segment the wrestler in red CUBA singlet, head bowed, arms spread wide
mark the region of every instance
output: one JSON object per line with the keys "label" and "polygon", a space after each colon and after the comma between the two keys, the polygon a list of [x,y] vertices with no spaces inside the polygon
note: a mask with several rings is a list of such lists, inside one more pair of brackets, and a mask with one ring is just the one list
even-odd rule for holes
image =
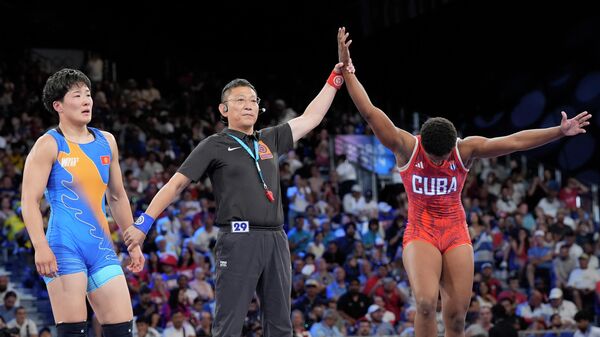
{"label": "wrestler in red CUBA singlet, head bowed, arms spread wide", "polygon": [[582,112],[560,126],[525,130],[505,137],[457,138],[445,118],[431,118],[420,135],[397,128],[375,107],[354,74],[348,34],[338,32],[338,55],[346,87],[358,111],[383,145],[396,155],[408,194],[408,225],[402,258],[417,304],[415,335],[437,336],[435,308],[441,291],[446,336],[464,336],[473,285],[473,247],[460,194],[471,163],[544,145],[563,136],[584,133],[591,118]]}

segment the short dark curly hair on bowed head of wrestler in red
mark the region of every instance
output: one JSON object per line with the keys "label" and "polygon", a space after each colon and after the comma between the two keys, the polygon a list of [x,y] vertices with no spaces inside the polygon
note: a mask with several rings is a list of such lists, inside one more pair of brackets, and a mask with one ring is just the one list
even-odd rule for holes
{"label": "short dark curly hair on bowed head of wrestler in red", "polygon": [[445,156],[456,146],[458,137],[451,121],[443,117],[429,118],[421,126],[421,143],[428,154]]}

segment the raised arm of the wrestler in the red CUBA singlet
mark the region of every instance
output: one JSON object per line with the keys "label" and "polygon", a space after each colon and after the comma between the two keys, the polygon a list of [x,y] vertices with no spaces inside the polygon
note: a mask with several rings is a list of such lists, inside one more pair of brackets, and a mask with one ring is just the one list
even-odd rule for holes
{"label": "raised arm of the wrestler in the red CUBA singlet", "polygon": [[340,28],[338,30],[338,57],[339,61],[345,65],[343,68],[344,79],[354,105],[369,123],[381,143],[393,152],[400,154],[403,159],[408,160],[415,146],[415,137],[409,132],[397,128],[381,109],[371,103],[365,88],[354,74],[348,48],[352,40],[346,42],[347,39],[346,29]]}

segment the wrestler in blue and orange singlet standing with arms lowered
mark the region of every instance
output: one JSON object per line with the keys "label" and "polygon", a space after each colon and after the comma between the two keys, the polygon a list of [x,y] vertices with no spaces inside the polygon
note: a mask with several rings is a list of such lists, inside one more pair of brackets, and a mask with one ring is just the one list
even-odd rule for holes
{"label": "wrestler in blue and orange singlet standing with arms lowered", "polygon": [[[47,283],[58,336],[86,336],[86,296],[104,336],[131,336],[131,300],[111,240],[105,203],[115,221],[131,226],[133,217],[123,186],[115,138],[89,128],[90,80],[63,69],[44,87],[43,101],[58,113],[58,128],[31,149],[23,172],[22,210],[35,248],[35,263]],[[48,230],[40,212],[45,194],[51,206]],[[129,252],[128,268],[141,270],[139,246]]]}

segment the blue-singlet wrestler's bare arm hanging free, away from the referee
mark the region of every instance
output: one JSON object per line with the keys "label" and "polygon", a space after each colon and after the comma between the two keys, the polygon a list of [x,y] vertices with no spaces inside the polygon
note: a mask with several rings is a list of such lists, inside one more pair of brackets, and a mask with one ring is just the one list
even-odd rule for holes
{"label": "blue-singlet wrestler's bare arm hanging free, away from the referee", "polygon": [[58,145],[50,135],[40,137],[25,161],[21,210],[25,227],[35,248],[35,267],[42,276],[54,277],[58,271],[56,257],[44,234],[40,201],[48,184],[52,165],[58,155]]}

